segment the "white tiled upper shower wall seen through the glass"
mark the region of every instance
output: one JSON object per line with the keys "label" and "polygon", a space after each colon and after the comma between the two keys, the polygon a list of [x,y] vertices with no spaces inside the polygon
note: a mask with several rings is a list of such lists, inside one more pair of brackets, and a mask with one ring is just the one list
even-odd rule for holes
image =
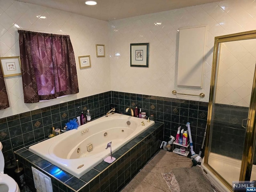
{"label": "white tiled upper shower wall seen through the glass", "polygon": [[256,62],[256,39],[222,43],[216,102],[250,106]]}

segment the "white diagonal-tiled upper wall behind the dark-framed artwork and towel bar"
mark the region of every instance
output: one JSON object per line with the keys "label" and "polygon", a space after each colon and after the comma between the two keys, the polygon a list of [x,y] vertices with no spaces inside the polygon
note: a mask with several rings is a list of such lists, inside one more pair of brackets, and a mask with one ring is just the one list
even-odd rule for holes
{"label": "white diagonal-tiled upper wall behind the dark-framed artwork and towel bar", "polygon": [[[109,22],[112,90],[208,102],[214,37],[256,30],[255,17],[254,0],[227,0]],[[177,87],[178,29],[199,25],[208,25],[203,88]],[[149,68],[130,67],[130,43],[146,42]]]}

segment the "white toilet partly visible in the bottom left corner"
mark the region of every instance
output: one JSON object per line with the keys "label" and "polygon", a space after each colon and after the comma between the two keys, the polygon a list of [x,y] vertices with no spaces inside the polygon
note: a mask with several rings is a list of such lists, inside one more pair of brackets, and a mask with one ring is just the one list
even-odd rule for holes
{"label": "white toilet partly visible in the bottom left corner", "polygon": [[4,174],[4,156],[2,148],[3,146],[0,142],[0,192],[20,192],[20,188],[15,180],[7,174]]}

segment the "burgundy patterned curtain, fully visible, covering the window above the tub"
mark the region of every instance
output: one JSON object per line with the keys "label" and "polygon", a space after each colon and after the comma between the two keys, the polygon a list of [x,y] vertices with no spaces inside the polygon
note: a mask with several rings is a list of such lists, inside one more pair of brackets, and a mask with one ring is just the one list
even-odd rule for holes
{"label": "burgundy patterned curtain, fully visible, covering the window above the tub", "polygon": [[18,30],[25,103],[76,94],[74,50],[68,35]]}

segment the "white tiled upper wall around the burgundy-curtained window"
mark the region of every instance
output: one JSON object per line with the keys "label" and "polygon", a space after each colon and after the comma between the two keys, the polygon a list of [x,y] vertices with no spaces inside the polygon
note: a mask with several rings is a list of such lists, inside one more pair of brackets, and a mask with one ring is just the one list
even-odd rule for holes
{"label": "white tiled upper wall around the burgundy-curtained window", "polygon": [[[46,19],[37,16],[46,16]],[[108,22],[14,0],[0,0],[0,57],[20,56],[17,28],[70,35],[79,93],[25,104],[21,76],[6,77],[10,107],[0,110],[0,118],[111,90],[110,81],[107,81],[110,79]],[[105,44],[106,57],[96,57],[96,44]],[[90,55],[92,67],[80,69],[78,56],[85,55]]]}

